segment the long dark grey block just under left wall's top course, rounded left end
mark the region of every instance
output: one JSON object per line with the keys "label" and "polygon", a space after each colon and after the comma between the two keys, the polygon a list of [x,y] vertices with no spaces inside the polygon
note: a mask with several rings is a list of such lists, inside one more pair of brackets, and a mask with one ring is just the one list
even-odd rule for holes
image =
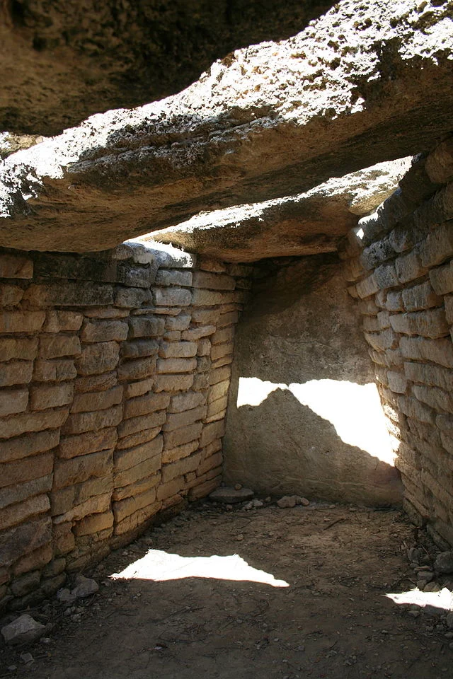
{"label": "long dark grey block just under left wall's top course, rounded left end", "polygon": [[107,306],[113,303],[113,287],[91,281],[34,284],[24,299],[35,306]]}

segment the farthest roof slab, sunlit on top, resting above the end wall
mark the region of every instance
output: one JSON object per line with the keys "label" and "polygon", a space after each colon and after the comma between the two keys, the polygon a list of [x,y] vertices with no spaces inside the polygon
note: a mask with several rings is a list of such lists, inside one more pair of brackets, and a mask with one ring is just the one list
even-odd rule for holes
{"label": "farthest roof slab, sunlit on top, resting above the end wall", "polygon": [[227,262],[334,252],[356,216],[376,209],[410,166],[410,157],[378,163],[299,196],[201,213],[141,240],[173,243]]}

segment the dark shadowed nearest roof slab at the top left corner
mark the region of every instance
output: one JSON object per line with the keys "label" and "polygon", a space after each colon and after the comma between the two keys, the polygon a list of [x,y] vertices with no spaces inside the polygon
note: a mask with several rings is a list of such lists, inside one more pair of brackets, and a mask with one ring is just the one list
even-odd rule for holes
{"label": "dark shadowed nearest roof slab at the top left corner", "polygon": [[329,0],[0,2],[0,129],[59,134],[180,91],[238,47],[302,30]]}

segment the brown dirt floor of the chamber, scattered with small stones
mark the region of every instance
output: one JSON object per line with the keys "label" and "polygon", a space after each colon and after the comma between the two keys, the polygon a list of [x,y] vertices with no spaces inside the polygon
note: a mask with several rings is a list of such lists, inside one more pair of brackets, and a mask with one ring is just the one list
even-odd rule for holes
{"label": "brown dirt floor of the chamber, scattered with small stones", "polygon": [[[2,647],[0,676],[451,678],[453,632],[442,616],[385,596],[415,586],[406,556],[414,544],[398,511],[200,504],[89,571],[100,583],[96,595],[69,608],[42,605],[35,613],[57,621],[55,629],[25,649],[28,664],[24,649]],[[159,557],[161,577],[179,579],[144,579],[159,573],[138,571],[140,564],[131,568],[138,579],[109,578],[149,550],[160,550],[148,559]],[[171,554],[239,555],[251,579],[219,579],[237,576],[239,559],[179,559],[169,574]],[[197,564],[204,577],[191,576]],[[265,577],[256,569],[287,586],[252,581]]]}

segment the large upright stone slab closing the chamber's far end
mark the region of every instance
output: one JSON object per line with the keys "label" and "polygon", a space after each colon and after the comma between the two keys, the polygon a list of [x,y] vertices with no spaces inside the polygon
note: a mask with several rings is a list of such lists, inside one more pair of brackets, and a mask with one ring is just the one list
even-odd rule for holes
{"label": "large upright stone slab closing the chamber's far end", "polygon": [[394,453],[340,262],[284,264],[263,276],[236,332],[225,480],[263,493],[399,504]]}

